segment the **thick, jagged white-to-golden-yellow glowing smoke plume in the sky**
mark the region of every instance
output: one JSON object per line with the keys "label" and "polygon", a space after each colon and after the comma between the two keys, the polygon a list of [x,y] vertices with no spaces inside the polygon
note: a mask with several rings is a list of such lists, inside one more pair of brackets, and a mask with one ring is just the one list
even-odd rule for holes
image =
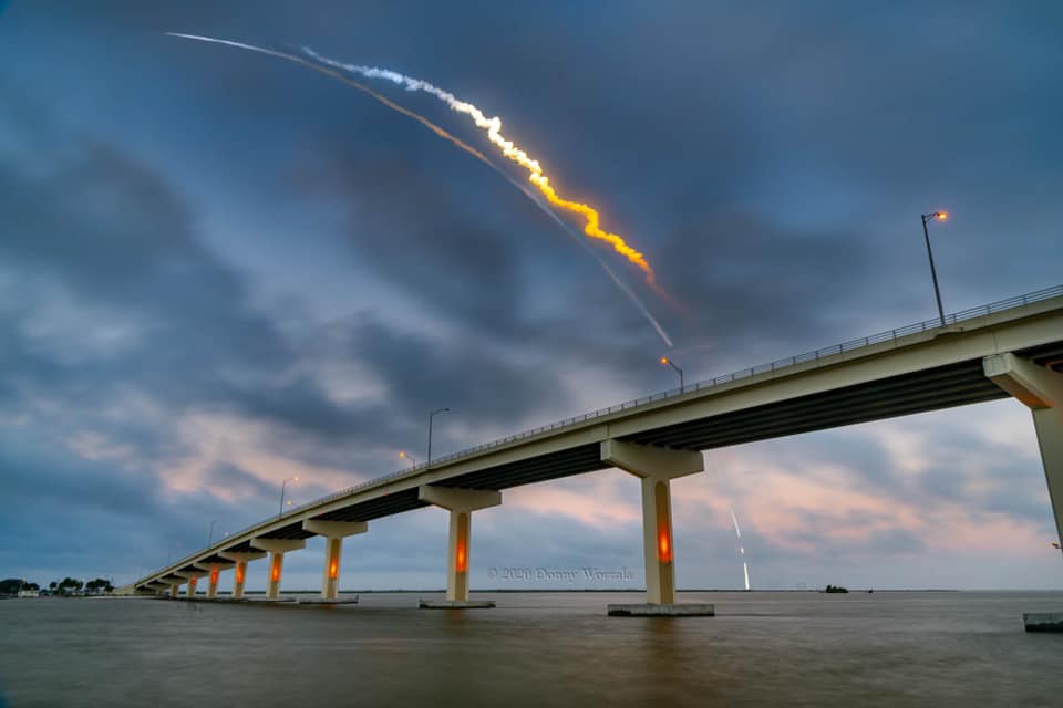
{"label": "thick, jagged white-to-golden-yellow glowing smoke plume in the sky", "polygon": [[600,227],[600,218],[598,212],[592,207],[558,196],[553,185],[550,185],[550,178],[545,171],[543,171],[543,166],[539,164],[539,162],[529,157],[528,154],[517,147],[513,140],[507,139],[502,134],[502,119],[498,116],[488,118],[475,105],[466,101],[462,101],[454,94],[443,91],[438,86],[434,86],[426,81],[412,79],[410,76],[400,74],[399,72],[391,71],[390,69],[378,69],[361,64],[344,64],[327,56],[322,56],[321,54],[318,54],[313,50],[306,46],[302,48],[302,51],[308,56],[328,64],[329,66],[342,69],[344,71],[365,76],[367,79],[384,79],[401,86],[405,86],[406,91],[423,91],[424,93],[431,94],[440,101],[443,101],[453,111],[456,111],[457,113],[464,113],[465,115],[469,116],[476,124],[476,127],[487,132],[487,139],[496,145],[502,150],[503,155],[528,170],[528,180],[538,188],[543,196],[546,197],[547,201],[559,209],[565,209],[566,211],[571,211],[584,217],[584,233],[590,238],[602,240],[612,246],[612,249],[617,253],[620,253],[642,270],[642,272],[646,274],[647,284],[649,284],[654,292],[664,296],[665,299],[669,299],[661,287],[657,284],[657,274],[653,272],[653,267],[650,266],[649,261],[646,260],[646,257],[636,249],[631,248],[620,236],[602,230]]}

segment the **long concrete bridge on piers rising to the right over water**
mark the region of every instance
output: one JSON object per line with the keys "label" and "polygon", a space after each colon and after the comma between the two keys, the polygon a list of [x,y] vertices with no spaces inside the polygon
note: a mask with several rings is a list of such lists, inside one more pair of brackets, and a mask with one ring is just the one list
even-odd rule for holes
{"label": "long concrete bridge on piers rising to the right over water", "polygon": [[285,554],[326,539],[321,597],[337,598],[343,539],[375,519],[450,511],[446,598],[468,601],[472,513],[506,489],[607,468],[642,487],[647,600],[674,603],[671,488],[704,470],[702,451],[1013,396],[1032,410],[1063,538],[1063,285],[568,418],[374,479],[230,534],[141,577],[125,593],[194,596],[233,569],[242,598],[248,562],[269,555],[267,598]]}

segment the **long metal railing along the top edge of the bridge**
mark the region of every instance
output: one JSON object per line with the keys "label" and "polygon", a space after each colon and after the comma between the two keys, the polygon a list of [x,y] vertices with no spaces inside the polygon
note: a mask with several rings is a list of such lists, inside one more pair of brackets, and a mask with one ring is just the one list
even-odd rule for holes
{"label": "long metal railing along the top edge of the bridge", "polygon": [[[1030,304],[1030,303],[1032,303],[1032,302],[1039,302],[1039,301],[1042,301],[1042,300],[1050,300],[1050,299],[1052,299],[1052,298],[1059,298],[1059,296],[1061,296],[1061,295],[1063,295],[1063,284],[1053,285],[1053,287],[1051,287],[1051,288],[1045,288],[1045,289],[1043,289],[1043,290],[1036,290],[1036,291],[1034,291],[1034,292],[1026,293],[1026,294],[1024,294],[1024,295],[1016,295],[1016,296],[1014,296],[1014,298],[1009,298],[1009,299],[1007,299],[1007,300],[1000,300],[1000,301],[998,301],[998,302],[992,302],[992,303],[987,304],[987,305],[980,305],[980,306],[978,306],[978,308],[970,308],[969,310],[961,310],[960,312],[956,312],[956,313],[952,313],[952,314],[948,314],[948,315],[945,316],[945,322],[946,322],[946,325],[956,324],[956,323],[958,323],[958,322],[963,322],[963,321],[966,321],[966,320],[973,320],[974,317],[982,317],[982,316],[985,316],[985,315],[988,315],[988,314],[992,314],[992,313],[994,313],[994,312],[1002,312],[1002,311],[1004,311],[1004,310],[1012,310],[1012,309],[1014,309],[1014,308],[1021,308],[1021,306],[1026,305],[1026,304]],[[650,403],[654,403],[654,402],[658,402],[658,400],[662,400],[662,399],[664,399],[664,398],[672,398],[672,397],[674,397],[674,396],[680,396],[680,395],[682,395],[682,394],[688,394],[688,393],[691,393],[691,392],[693,392],[693,391],[703,391],[703,389],[705,389],[705,388],[712,388],[713,386],[722,386],[723,384],[730,384],[730,383],[732,383],[732,382],[740,381],[740,379],[742,379],[742,378],[750,378],[751,376],[755,376],[755,375],[758,375],[758,374],[766,374],[766,373],[771,373],[771,372],[777,372],[777,371],[780,371],[780,369],[784,369],[784,368],[787,368],[787,367],[789,367],[789,366],[795,366],[795,365],[797,365],[797,364],[804,364],[804,363],[807,363],[807,362],[815,362],[815,361],[818,361],[818,360],[821,360],[821,358],[823,358],[823,357],[825,357],[825,356],[832,356],[832,355],[835,355],[835,354],[842,354],[842,353],[845,353],[845,352],[852,352],[852,351],[855,351],[855,350],[863,348],[863,347],[865,347],[865,346],[870,346],[870,345],[873,345],[873,344],[879,344],[879,343],[881,343],[881,342],[895,341],[895,340],[898,340],[898,339],[900,339],[900,337],[902,337],[902,336],[906,336],[906,335],[909,335],[909,334],[916,334],[916,333],[919,333],[919,332],[927,332],[927,331],[929,331],[929,330],[935,330],[935,329],[938,329],[938,327],[940,327],[940,326],[941,326],[941,321],[940,321],[940,319],[923,320],[922,322],[917,322],[917,323],[915,323],[915,324],[909,324],[909,325],[906,325],[906,326],[902,326],[902,327],[897,327],[896,330],[888,330],[888,331],[886,331],[886,332],[879,332],[879,333],[877,333],[877,334],[870,334],[870,335],[868,335],[868,336],[864,336],[864,337],[860,337],[860,339],[857,339],[857,340],[849,340],[848,342],[842,342],[840,344],[832,344],[830,346],[825,346],[825,347],[823,347],[823,348],[818,348],[818,350],[815,350],[815,351],[813,351],[813,352],[806,352],[806,353],[804,353],[804,354],[797,354],[796,356],[789,356],[789,357],[787,357],[787,358],[776,360],[776,361],[770,362],[770,363],[767,363],[767,364],[757,364],[756,366],[751,366],[751,367],[749,367],[749,368],[743,368],[743,369],[741,369],[741,371],[732,372],[732,373],[730,373],[730,374],[724,374],[724,375],[722,375],[722,376],[716,376],[716,377],[714,377],[714,378],[706,378],[706,379],[703,379],[703,381],[699,381],[699,382],[695,382],[695,383],[690,384],[690,385],[688,385],[688,386],[683,386],[682,388],[670,388],[670,389],[668,389],[668,391],[661,391],[661,392],[658,392],[658,393],[650,394],[650,395],[648,395],[648,396],[642,396],[642,397],[640,397],[640,398],[634,398],[634,399],[632,399],[632,400],[626,400],[626,402],[623,402],[623,403],[613,404],[613,405],[608,406],[608,407],[606,407],[606,408],[598,408],[597,410],[591,410],[591,412],[588,412],[588,413],[584,413],[584,414],[581,414],[581,415],[572,416],[572,417],[570,417],[570,418],[565,418],[564,420],[558,420],[558,421],[556,421],[556,423],[549,423],[549,424],[547,424],[547,425],[541,425],[541,426],[539,426],[539,427],[537,427],[537,428],[532,428],[532,429],[525,430],[525,431],[523,431],[523,433],[517,433],[517,434],[515,434],[515,435],[509,435],[509,436],[506,436],[506,437],[504,437],[504,438],[499,438],[499,439],[497,439],[497,440],[492,440],[491,442],[484,442],[484,444],[482,444],[482,445],[477,445],[477,446],[475,446],[475,447],[466,448],[466,449],[464,449],[464,450],[460,450],[460,451],[453,452],[453,454],[451,454],[451,455],[445,455],[445,456],[443,456],[443,457],[434,458],[434,459],[432,460],[432,465],[435,466],[435,465],[442,465],[442,464],[444,464],[444,462],[451,462],[451,461],[461,459],[461,458],[463,458],[463,457],[468,457],[468,456],[471,456],[471,455],[476,455],[477,452],[482,452],[482,451],[484,451],[484,450],[489,450],[489,449],[492,449],[492,448],[502,447],[502,446],[504,446],[504,445],[509,445],[509,444],[512,444],[512,442],[515,442],[515,441],[517,441],[517,440],[522,440],[522,439],[524,439],[524,438],[529,438],[529,437],[533,437],[533,436],[536,436],[536,435],[540,435],[540,434],[543,434],[543,433],[548,433],[548,431],[550,431],[550,430],[557,430],[557,429],[559,429],[559,428],[566,428],[566,427],[568,427],[568,426],[580,425],[580,424],[584,424],[584,423],[586,423],[586,421],[588,421],[588,420],[594,420],[594,419],[596,419],[596,418],[600,418],[600,417],[603,417],[603,416],[612,415],[613,413],[619,413],[619,412],[621,412],[621,410],[627,410],[627,409],[630,409],[630,408],[636,408],[636,407],[638,407],[638,406],[643,406],[643,405],[647,405],[647,404],[650,404]],[[258,523],[255,523],[255,524],[252,524],[252,525],[250,525],[250,527],[248,527],[248,528],[246,528],[246,529],[244,529],[244,530],[241,530],[241,531],[238,531],[238,532],[236,532],[236,533],[234,533],[234,534],[230,534],[230,538],[229,538],[229,539],[227,539],[227,540],[225,540],[225,541],[219,541],[218,543],[214,544],[214,545],[210,546],[210,548],[218,548],[218,549],[220,550],[220,548],[225,546],[227,543],[231,543],[231,537],[234,537],[234,535],[235,535],[235,537],[242,535],[242,534],[245,534],[245,533],[248,533],[248,532],[250,532],[250,531],[254,531],[255,529],[257,529],[257,528],[259,528],[259,527],[268,525],[268,524],[270,524],[270,523],[272,523],[272,522],[275,522],[275,521],[277,521],[277,520],[281,520],[281,519],[286,518],[286,517],[298,516],[300,512],[306,511],[307,509],[310,509],[310,508],[313,508],[313,507],[319,507],[319,506],[321,506],[321,504],[328,503],[328,502],[330,502],[330,501],[334,501],[334,500],[337,500],[337,499],[342,499],[343,497],[348,497],[348,496],[350,496],[350,494],[357,493],[357,492],[362,491],[362,490],[364,490],[364,489],[369,489],[369,488],[371,488],[371,487],[378,487],[378,486],[383,485],[383,483],[389,482],[389,481],[402,479],[402,478],[407,477],[407,476],[417,475],[417,473],[420,473],[420,472],[423,472],[423,471],[426,470],[427,468],[429,468],[429,462],[425,461],[425,462],[421,462],[420,465],[416,465],[416,466],[411,467],[411,468],[407,468],[407,469],[402,469],[402,470],[399,470],[399,471],[395,471],[395,472],[391,472],[391,473],[389,473],[389,475],[384,475],[383,477],[376,477],[376,478],[374,478],[374,479],[370,479],[370,480],[367,480],[367,481],[364,481],[364,482],[360,482],[360,483],[358,483],[358,485],[354,485],[353,487],[348,487],[347,489],[341,489],[341,490],[339,490],[339,491],[332,492],[331,494],[327,494],[327,496],[324,496],[324,497],[321,497],[320,499],[314,499],[313,501],[309,501],[309,502],[307,502],[307,503],[299,504],[298,507],[292,508],[292,509],[289,510],[288,512],[286,512],[286,513],[283,513],[283,514],[277,517],[277,519],[269,519],[269,520],[267,520],[267,521],[260,521],[260,522],[258,522]],[[209,549],[207,549],[207,550],[209,550]],[[202,554],[203,554],[203,551],[198,551],[198,552],[196,552],[196,553],[194,553],[194,554],[192,554],[192,555],[188,555],[188,556],[182,559],[180,561],[177,562],[176,565],[187,564],[188,562],[193,561],[194,559],[198,558],[198,556],[202,555]]]}

